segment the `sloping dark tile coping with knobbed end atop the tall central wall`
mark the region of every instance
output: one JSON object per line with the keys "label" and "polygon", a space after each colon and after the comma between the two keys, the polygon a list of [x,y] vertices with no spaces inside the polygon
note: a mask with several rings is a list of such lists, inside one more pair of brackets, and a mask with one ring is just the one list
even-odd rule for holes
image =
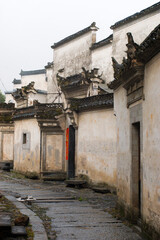
{"label": "sloping dark tile coping with knobbed end atop the tall central wall", "polygon": [[54,45],[52,45],[51,48],[55,49],[55,48],[61,46],[62,44],[67,43],[67,42],[69,42],[69,41],[71,41],[71,40],[73,40],[73,39],[75,39],[75,38],[77,38],[79,36],[82,36],[83,34],[89,32],[89,31],[92,31],[92,30],[96,30],[96,31],[98,30],[98,28],[96,27],[96,23],[95,22],[93,22],[89,27],[86,27],[83,30],[81,30],[79,32],[76,32],[76,33],[74,33],[74,34],[72,34],[72,35],[70,35],[70,36],[60,40],[59,42],[54,43]]}

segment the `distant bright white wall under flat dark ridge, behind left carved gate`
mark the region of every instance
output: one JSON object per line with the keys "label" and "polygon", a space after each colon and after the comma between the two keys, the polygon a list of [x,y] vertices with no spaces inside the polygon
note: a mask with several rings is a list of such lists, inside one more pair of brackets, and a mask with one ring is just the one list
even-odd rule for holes
{"label": "distant bright white wall under flat dark ridge, behind left carved gate", "polygon": [[28,85],[30,82],[35,82],[34,88],[47,91],[47,81],[45,74],[35,74],[35,75],[27,75],[21,77],[21,87]]}

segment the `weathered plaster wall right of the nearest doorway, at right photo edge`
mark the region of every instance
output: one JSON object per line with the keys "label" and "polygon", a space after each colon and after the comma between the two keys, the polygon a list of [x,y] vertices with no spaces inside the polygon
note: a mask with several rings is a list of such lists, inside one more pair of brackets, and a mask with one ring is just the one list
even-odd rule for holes
{"label": "weathered plaster wall right of the nearest doorway, at right photo edge", "polygon": [[160,232],[160,53],[145,68],[143,214]]}

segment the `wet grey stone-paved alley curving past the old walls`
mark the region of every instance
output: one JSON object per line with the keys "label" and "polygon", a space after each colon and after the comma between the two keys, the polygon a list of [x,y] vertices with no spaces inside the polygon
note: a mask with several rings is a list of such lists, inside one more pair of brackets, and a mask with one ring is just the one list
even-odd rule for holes
{"label": "wet grey stone-paved alley curving past the old walls", "polygon": [[[66,188],[63,182],[17,179],[12,173],[2,172],[0,191],[23,213],[29,211],[36,233],[34,239],[142,240],[133,229],[107,212],[115,205],[115,195],[95,193],[90,189]],[[16,195],[31,195],[39,200],[26,207],[16,200]],[[35,209],[45,211],[47,219],[50,219],[48,237],[42,221],[32,212]]]}

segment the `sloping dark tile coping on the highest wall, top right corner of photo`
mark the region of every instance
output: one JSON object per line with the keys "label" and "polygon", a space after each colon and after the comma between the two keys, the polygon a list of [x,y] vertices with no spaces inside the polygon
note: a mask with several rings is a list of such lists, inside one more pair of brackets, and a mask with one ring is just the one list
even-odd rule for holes
{"label": "sloping dark tile coping on the highest wall, top right corner of photo", "polygon": [[134,21],[134,20],[136,20],[136,19],[138,19],[138,18],[141,18],[141,17],[143,17],[143,16],[145,16],[145,15],[147,15],[147,14],[150,14],[150,13],[152,13],[152,12],[155,12],[155,11],[157,11],[157,10],[159,10],[159,9],[160,9],[160,2],[158,2],[158,3],[156,3],[156,4],[152,5],[152,6],[150,6],[150,7],[148,7],[148,8],[145,8],[145,9],[143,9],[142,11],[137,12],[137,13],[135,13],[135,14],[127,17],[127,18],[124,18],[124,19],[116,22],[116,23],[115,23],[114,25],[112,25],[110,28],[111,28],[111,29],[115,29],[115,28],[120,27],[120,26],[122,26],[122,25],[124,25],[124,24],[127,24],[127,23],[129,23],[129,22],[132,22],[132,21]]}

